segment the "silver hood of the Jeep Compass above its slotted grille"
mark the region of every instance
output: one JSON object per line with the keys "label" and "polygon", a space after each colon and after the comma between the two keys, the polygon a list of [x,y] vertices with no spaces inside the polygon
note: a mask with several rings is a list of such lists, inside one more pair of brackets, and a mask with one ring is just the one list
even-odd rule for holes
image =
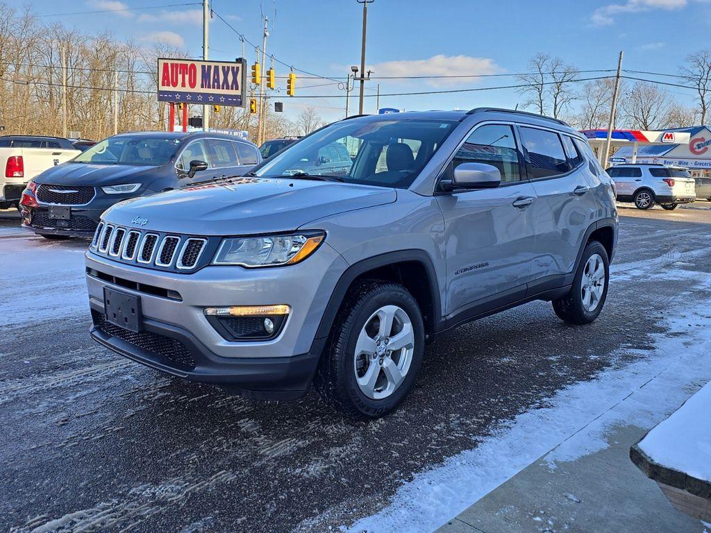
{"label": "silver hood of the Jeep Compass above its slotted grille", "polygon": [[396,198],[395,189],[371,185],[235,178],[127,200],[107,210],[104,219],[161,232],[253,235],[296,230],[312,220]]}

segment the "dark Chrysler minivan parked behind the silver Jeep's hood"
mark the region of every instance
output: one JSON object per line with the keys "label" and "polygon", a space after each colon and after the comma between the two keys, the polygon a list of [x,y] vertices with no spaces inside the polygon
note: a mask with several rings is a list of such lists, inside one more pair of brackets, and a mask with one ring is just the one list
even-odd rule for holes
{"label": "dark Chrysler minivan parked behind the silver Jeep's hood", "polygon": [[231,135],[114,135],[28,183],[23,226],[48,239],[91,237],[114,203],[214,176],[240,176],[260,161],[257,146]]}

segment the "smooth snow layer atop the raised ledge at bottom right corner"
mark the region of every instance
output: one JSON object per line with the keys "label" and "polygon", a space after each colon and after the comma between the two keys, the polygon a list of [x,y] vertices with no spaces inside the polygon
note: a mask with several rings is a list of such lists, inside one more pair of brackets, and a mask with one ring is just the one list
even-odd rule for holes
{"label": "smooth snow layer atop the raised ledge at bottom right corner", "polygon": [[711,383],[639,443],[652,461],[711,481]]}

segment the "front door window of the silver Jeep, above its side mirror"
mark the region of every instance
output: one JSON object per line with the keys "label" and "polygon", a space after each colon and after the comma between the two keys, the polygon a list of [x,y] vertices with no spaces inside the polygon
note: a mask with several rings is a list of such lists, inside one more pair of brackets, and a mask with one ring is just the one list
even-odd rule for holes
{"label": "front door window of the silver Jeep, above its side mirror", "polygon": [[513,129],[506,124],[487,124],[471,132],[454,154],[454,168],[461,163],[485,163],[501,172],[501,183],[520,181],[518,149]]}

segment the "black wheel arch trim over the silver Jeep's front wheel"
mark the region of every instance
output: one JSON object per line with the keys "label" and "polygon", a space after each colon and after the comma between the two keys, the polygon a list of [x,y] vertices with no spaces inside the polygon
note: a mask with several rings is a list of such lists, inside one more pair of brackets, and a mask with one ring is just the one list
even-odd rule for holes
{"label": "black wheel arch trim over the silver Jeep's front wheel", "polygon": [[[424,278],[424,279],[423,279]],[[363,279],[382,279],[402,284],[415,298],[424,321],[425,338],[432,338],[442,318],[442,304],[437,284],[437,273],[429,254],[410,249],[388,252],[352,264],[341,274],[326,304],[326,311],[316,330],[314,346],[322,351],[331,333],[336,315],[348,291]],[[312,351],[314,348],[312,348]]]}

